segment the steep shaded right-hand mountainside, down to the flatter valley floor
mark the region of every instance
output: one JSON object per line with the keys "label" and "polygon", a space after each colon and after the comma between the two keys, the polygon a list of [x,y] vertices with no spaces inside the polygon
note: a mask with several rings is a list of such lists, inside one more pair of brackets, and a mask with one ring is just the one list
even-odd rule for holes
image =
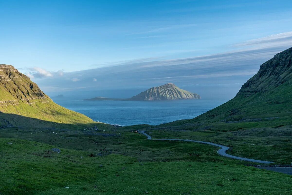
{"label": "steep shaded right-hand mountainside, down to the flatter valley floor", "polygon": [[[263,63],[230,101],[190,120],[167,125],[204,122],[252,122],[272,120],[265,124],[291,124],[292,115],[292,48],[276,54]],[[272,118],[271,118],[272,117]],[[279,122],[281,121],[281,122]]]}

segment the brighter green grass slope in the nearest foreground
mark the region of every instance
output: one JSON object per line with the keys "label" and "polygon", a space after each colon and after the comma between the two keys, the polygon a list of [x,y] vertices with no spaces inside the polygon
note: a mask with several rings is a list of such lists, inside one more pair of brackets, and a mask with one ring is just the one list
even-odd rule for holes
{"label": "brighter green grass slope in the nearest foreground", "polygon": [[146,141],[150,159],[139,162],[133,153],[91,156],[90,151],[68,148],[53,153],[51,148],[58,146],[1,138],[0,194],[292,194],[291,176],[219,157],[211,146],[186,147],[198,154],[208,151],[206,162],[154,161],[158,148],[180,153],[185,146]]}

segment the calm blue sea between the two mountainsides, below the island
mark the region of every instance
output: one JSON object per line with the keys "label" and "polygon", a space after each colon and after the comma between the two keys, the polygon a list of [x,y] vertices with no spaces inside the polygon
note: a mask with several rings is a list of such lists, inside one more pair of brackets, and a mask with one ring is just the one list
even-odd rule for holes
{"label": "calm blue sea between the two mountainsides, below the island", "polygon": [[54,99],[55,103],[82,113],[89,118],[112,125],[135,125],[172,122],[194,118],[226,101],[174,100],[174,101],[81,101]]}

